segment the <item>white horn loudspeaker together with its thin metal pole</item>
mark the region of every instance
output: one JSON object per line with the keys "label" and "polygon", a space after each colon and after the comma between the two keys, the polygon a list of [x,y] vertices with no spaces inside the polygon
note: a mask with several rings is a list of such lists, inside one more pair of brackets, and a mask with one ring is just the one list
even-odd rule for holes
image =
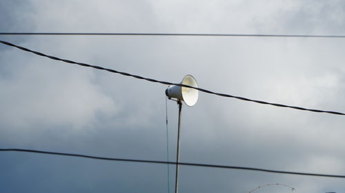
{"label": "white horn loudspeaker together with its thin metal pole", "polygon": [[[181,84],[188,85],[190,87],[197,88],[197,80],[191,75],[184,76],[182,79]],[[179,126],[177,129],[177,152],[176,152],[176,175],[175,175],[175,193],[179,192],[179,145],[180,145],[180,138],[181,138],[181,110],[182,110],[182,102],[187,104],[187,106],[194,106],[197,103],[197,99],[199,98],[199,92],[197,89],[191,89],[187,87],[179,87],[179,86],[172,86],[166,89],[166,96],[171,98],[177,99],[177,104],[179,105]]]}

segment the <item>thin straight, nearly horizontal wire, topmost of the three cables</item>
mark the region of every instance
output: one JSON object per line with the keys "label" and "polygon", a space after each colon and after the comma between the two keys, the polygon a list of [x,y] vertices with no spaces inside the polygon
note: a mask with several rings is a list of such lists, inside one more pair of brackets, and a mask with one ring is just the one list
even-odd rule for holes
{"label": "thin straight, nearly horizontal wire, topmost of the three cables", "polygon": [[11,36],[239,36],[239,37],[282,37],[282,38],[345,38],[345,35],[302,35],[302,34],[189,34],[189,33],[61,33],[61,32],[0,32]]}

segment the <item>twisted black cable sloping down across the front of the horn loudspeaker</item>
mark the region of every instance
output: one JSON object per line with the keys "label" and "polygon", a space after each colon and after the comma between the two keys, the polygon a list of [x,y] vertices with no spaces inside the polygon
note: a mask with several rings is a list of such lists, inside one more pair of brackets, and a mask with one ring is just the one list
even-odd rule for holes
{"label": "twisted black cable sloping down across the front of the horn loudspeaker", "polygon": [[198,91],[201,91],[201,92],[204,92],[204,93],[210,93],[210,94],[213,94],[213,95],[219,95],[219,96],[225,97],[225,98],[236,98],[238,100],[255,102],[255,103],[259,103],[259,104],[269,104],[269,105],[272,105],[272,106],[285,107],[285,108],[290,108],[290,109],[297,109],[297,110],[301,110],[301,111],[312,111],[312,112],[315,112],[315,113],[329,113],[329,114],[334,114],[334,115],[345,115],[345,113],[340,113],[340,112],[337,112],[337,111],[323,111],[323,110],[318,110],[318,109],[306,109],[306,108],[300,107],[300,106],[289,106],[289,105],[286,105],[286,104],[277,104],[277,103],[265,102],[265,101],[261,101],[261,100],[252,100],[252,99],[249,99],[249,98],[244,98],[244,97],[235,96],[235,95],[229,95],[229,94],[226,94],[226,93],[217,93],[217,92],[209,91],[209,90],[206,90],[206,89],[201,89],[201,88],[197,88],[197,87],[191,87],[191,86],[186,85],[186,84],[172,83],[172,82],[166,82],[166,81],[161,81],[161,80],[155,80],[155,79],[152,79],[152,78],[145,78],[143,76],[138,76],[138,75],[134,75],[134,74],[131,74],[131,73],[126,73],[126,72],[123,72],[123,71],[117,71],[115,69],[108,69],[108,68],[105,68],[105,67],[99,67],[99,66],[95,66],[95,65],[88,65],[86,63],[78,63],[78,62],[75,62],[75,61],[72,61],[72,60],[66,60],[66,59],[57,58],[55,56],[49,56],[49,55],[43,54],[41,52],[37,52],[37,51],[31,50],[31,49],[28,49],[26,47],[21,47],[19,45],[14,45],[14,44],[6,42],[6,41],[0,41],[0,43],[2,43],[4,45],[9,45],[9,46],[12,46],[12,47],[17,47],[18,49],[21,49],[23,51],[31,52],[33,54],[37,54],[39,56],[47,57],[47,58],[50,58],[52,60],[59,60],[59,61],[62,61],[64,63],[80,65],[80,66],[83,66],[83,67],[92,67],[92,68],[95,68],[95,69],[105,70],[105,71],[109,71],[109,72],[112,72],[112,73],[119,73],[119,74],[121,74],[123,76],[130,76],[130,77],[141,79],[141,80],[147,80],[149,82],[157,82],[157,83],[166,84],[166,85],[176,85],[176,86],[179,86],[179,87],[188,87],[188,88],[191,88],[191,89],[197,89]]}

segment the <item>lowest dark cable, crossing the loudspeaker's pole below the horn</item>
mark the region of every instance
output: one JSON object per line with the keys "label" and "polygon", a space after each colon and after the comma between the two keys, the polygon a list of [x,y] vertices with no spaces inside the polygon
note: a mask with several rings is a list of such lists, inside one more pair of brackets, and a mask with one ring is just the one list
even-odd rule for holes
{"label": "lowest dark cable, crossing the loudspeaker's pole below the horn", "polygon": [[303,175],[303,176],[313,176],[313,177],[332,177],[332,178],[342,178],[344,175],[333,175],[333,174],[315,174],[315,173],[306,173],[306,172],[287,172],[280,170],[266,170],[261,168],[248,168],[241,166],[224,166],[224,165],[213,165],[213,164],[203,164],[203,163],[186,163],[186,162],[175,162],[175,161],[153,161],[153,160],[144,160],[144,159],[120,159],[120,158],[111,158],[111,157],[97,157],[91,155],[81,155],[81,154],[72,154],[72,153],[63,153],[63,152],[50,152],[50,151],[41,151],[41,150],[28,150],[28,149],[17,149],[17,148],[0,148],[2,152],[31,152],[31,153],[40,153],[48,155],[62,155],[68,157],[82,157],[88,159],[100,159],[108,161],[127,161],[127,162],[137,162],[137,163],[161,163],[161,164],[174,164],[181,166],[196,166],[204,168],[222,168],[222,169],[233,169],[233,170],[251,170],[257,172],[269,172],[269,173],[278,173],[278,174],[294,174],[294,175]]}

